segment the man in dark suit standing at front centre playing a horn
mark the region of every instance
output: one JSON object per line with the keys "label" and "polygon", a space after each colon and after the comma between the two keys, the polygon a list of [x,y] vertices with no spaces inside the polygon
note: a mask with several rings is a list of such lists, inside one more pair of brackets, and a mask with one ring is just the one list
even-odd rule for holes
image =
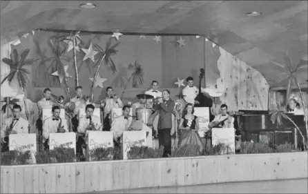
{"label": "man in dark suit standing at front centre playing a horn", "polygon": [[170,99],[170,91],[164,90],[162,98],[158,99],[157,104],[154,104],[156,110],[160,110],[158,118],[158,142],[160,146],[164,146],[164,157],[171,155],[171,128],[172,128],[172,113],[175,103]]}

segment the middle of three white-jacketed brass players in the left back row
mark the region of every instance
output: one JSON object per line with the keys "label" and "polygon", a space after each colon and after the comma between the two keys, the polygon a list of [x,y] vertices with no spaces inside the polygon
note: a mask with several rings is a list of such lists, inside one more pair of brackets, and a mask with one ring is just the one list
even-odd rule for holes
{"label": "middle of three white-jacketed brass players in the left back row", "polygon": [[77,132],[77,126],[78,126],[78,113],[79,113],[79,109],[82,106],[82,87],[81,86],[77,86],[75,88],[75,94],[76,97],[73,97],[72,99],[70,99],[70,101],[75,103],[75,110],[73,111],[73,118],[72,118],[72,124],[73,124],[73,132]]}

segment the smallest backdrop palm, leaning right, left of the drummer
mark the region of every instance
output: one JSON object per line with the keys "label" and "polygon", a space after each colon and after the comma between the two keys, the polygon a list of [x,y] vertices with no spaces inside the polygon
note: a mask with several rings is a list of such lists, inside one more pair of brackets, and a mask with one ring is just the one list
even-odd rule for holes
{"label": "smallest backdrop palm, leaning right, left of the drummer", "polygon": [[142,66],[138,63],[138,61],[135,61],[135,64],[129,64],[128,65],[128,70],[133,70],[131,76],[128,78],[125,86],[124,86],[124,90],[121,96],[121,99],[124,96],[126,87],[128,86],[129,81],[131,81],[131,79],[133,79],[133,88],[137,88],[137,86],[142,85],[144,83],[144,70],[142,69]]}

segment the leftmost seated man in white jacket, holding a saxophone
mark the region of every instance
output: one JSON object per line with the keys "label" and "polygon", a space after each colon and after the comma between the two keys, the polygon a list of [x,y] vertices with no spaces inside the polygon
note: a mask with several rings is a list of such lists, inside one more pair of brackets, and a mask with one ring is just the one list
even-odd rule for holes
{"label": "leftmost seated man in white jacket, holding a saxophone", "polygon": [[15,104],[13,106],[13,117],[4,119],[3,126],[1,127],[1,144],[2,151],[8,151],[9,135],[29,133],[29,123],[26,119],[20,117],[21,106]]}

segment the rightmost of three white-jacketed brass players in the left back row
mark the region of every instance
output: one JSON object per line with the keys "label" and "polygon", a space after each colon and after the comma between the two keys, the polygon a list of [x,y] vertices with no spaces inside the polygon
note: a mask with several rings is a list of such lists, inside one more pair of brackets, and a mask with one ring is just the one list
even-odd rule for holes
{"label": "rightmost of three white-jacketed brass players in the left back row", "polygon": [[110,130],[110,113],[113,108],[122,108],[123,102],[117,95],[113,95],[113,88],[108,87],[106,88],[107,97],[105,101],[105,108],[104,108],[104,130]]}

